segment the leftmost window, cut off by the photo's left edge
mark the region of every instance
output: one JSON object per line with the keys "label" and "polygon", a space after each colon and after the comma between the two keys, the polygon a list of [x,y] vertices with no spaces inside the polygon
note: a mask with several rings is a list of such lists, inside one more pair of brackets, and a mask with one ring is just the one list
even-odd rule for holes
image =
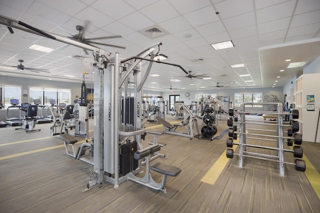
{"label": "leftmost window, cut off by the photo's left edge", "polygon": [[10,99],[18,99],[21,102],[21,87],[13,85],[0,85],[0,100],[4,107],[11,106]]}

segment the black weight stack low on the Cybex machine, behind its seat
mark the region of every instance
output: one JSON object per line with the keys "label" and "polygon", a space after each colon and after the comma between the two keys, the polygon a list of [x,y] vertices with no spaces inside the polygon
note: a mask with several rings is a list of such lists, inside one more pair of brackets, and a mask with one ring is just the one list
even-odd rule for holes
{"label": "black weight stack low on the Cybex machine, behind its seat", "polygon": [[134,171],[138,167],[138,161],[133,155],[137,150],[136,142],[124,144],[120,148],[120,174],[125,176],[129,172]]}

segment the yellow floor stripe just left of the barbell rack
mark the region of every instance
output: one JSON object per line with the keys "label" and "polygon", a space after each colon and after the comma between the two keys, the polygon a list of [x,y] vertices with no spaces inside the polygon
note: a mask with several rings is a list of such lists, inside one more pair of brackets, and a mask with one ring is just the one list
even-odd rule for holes
{"label": "yellow floor stripe just left of the barbell rack", "polygon": [[[237,140],[234,142],[238,143]],[[235,151],[237,146],[233,147]],[[222,173],[226,164],[230,159],[226,157],[226,150],[219,156],[218,160],[213,164],[209,171],[202,177],[201,182],[213,185],[218,179],[219,175]]]}

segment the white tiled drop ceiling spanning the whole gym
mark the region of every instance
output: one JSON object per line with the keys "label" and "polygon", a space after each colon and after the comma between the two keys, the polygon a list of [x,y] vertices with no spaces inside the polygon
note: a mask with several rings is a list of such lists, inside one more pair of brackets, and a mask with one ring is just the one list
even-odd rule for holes
{"label": "white tiled drop ceiling spanning the whole gym", "polygon": [[[286,68],[286,59],[308,61],[308,65],[320,56],[320,0],[1,0],[0,15],[62,36],[77,34],[75,26],[89,22],[86,38],[122,36],[97,40],[124,46],[98,45],[111,53],[119,52],[121,58],[161,41],[159,53],[168,56],[165,62],[211,78],[182,77],[173,82],[173,76],[186,74],[177,67],[153,64],[150,74],[160,76],[149,76],[144,88],[161,91],[170,86],[210,89],[216,88],[216,83],[228,88],[282,87],[303,69]],[[148,35],[154,28],[160,32]],[[18,60],[24,60],[24,66],[50,73],[0,66],[0,76],[82,81],[81,57],[74,56],[92,58],[91,52],[85,54],[79,47],[13,31],[11,34],[0,25],[0,64],[17,65]],[[227,40],[233,42],[233,48],[214,50],[210,46]],[[32,44],[54,50],[28,49]],[[230,66],[240,63],[245,66]]]}

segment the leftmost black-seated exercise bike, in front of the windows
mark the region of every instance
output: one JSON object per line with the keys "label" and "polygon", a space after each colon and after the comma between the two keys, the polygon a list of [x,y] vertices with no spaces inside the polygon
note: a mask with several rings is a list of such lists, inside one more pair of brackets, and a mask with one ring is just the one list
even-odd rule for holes
{"label": "leftmost black-seated exercise bike, in front of the windows", "polygon": [[22,119],[22,127],[15,128],[15,130],[23,129],[25,132],[40,131],[40,129],[34,129],[38,107],[34,104],[23,103],[19,109],[25,112],[25,116]]}

